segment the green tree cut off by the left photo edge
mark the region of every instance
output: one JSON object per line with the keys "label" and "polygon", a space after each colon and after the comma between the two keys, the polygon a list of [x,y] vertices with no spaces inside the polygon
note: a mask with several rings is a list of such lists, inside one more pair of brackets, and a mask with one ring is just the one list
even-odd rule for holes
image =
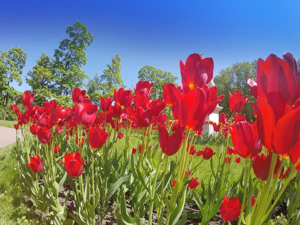
{"label": "green tree cut off by the left photo edge", "polygon": [[17,82],[18,85],[22,84],[21,74],[26,64],[27,54],[22,48],[15,46],[8,51],[3,51],[0,58],[0,95],[5,120],[8,102],[18,94],[10,84],[12,81]]}

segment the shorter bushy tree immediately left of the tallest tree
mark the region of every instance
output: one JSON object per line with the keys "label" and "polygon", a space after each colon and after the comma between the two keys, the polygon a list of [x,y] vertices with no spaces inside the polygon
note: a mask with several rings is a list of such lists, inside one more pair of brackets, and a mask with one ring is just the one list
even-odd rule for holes
{"label": "shorter bushy tree immediately left of the tallest tree", "polygon": [[42,53],[25,77],[26,82],[31,86],[31,92],[35,93],[35,104],[42,105],[46,99],[54,96],[55,87],[52,82],[53,77],[53,62],[50,57]]}

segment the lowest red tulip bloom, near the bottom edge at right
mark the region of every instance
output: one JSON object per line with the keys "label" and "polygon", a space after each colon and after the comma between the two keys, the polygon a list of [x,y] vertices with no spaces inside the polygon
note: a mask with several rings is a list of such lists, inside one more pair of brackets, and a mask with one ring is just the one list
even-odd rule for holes
{"label": "lowest red tulip bloom, near the bottom edge at right", "polygon": [[241,204],[239,204],[238,197],[229,199],[224,195],[224,199],[221,204],[220,213],[224,221],[233,221],[238,218],[241,210]]}

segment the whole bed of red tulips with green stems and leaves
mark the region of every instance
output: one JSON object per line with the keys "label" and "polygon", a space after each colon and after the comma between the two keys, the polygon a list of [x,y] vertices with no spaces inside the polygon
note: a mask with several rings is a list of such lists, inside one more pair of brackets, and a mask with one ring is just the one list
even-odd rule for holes
{"label": "whole bed of red tulips with green stems and leaves", "polygon": [[[295,170],[300,170],[300,74],[294,57],[287,52],[283,59],[273,54],[258,59],[257,83],[247,80],[257,100],[251,103],[254,122],[238,113],[247,101],[238,90],[229,93],[231,115],[221,113],[218,123],[206,121],[224,97],[217,96],[216,86],[208,87],[213,60],[194,53],[179,66],[182,86],[164,84],[162,100],[151,99],[153,83],[140,80],[134,94],[120,87],[113,96],[100,97],[100,109],[79,87],[72,91],[72,107],[55,100],[33,106],[34,93],[28,90],[20,96],[25,112],[10,105],[17,115],[15,129],[22,127],[14,154],[24,189],[55,224],[102,224],[110,210],[119,224],[144,224],[145,218],[151,224],[154,209],[158,224],[184,224],[186,193],[200,209],[201,224],[208,224],[218,209],[224,221],[238,218],[238,225],[269,219],[297,177]],[[225,138],[214,150],[195,149],[204,124]],[[232,157],[236,163],[243,158],[245,164],[241,203],[225,192]],[[213,174],[206,199],[188,191],[200,184],[193,175],[203,160],[210,160]],[[67,188],[76,212],[68,211],[67,197],[63,205],[59,202],[59,192]],[[131,214],[126,211],[126,192]]]}

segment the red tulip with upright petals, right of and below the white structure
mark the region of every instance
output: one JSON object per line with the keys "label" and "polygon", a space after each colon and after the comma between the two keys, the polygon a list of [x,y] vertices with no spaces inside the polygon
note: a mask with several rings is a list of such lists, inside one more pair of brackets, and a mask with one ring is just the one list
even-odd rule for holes
{"label": "red tulip with upright petals, right of and below the white structure", "polygon": [[262,144],[258,137],[256,122],[238,122],[229,127],[234,149],[242,158],[250,158],[261,151]]}

